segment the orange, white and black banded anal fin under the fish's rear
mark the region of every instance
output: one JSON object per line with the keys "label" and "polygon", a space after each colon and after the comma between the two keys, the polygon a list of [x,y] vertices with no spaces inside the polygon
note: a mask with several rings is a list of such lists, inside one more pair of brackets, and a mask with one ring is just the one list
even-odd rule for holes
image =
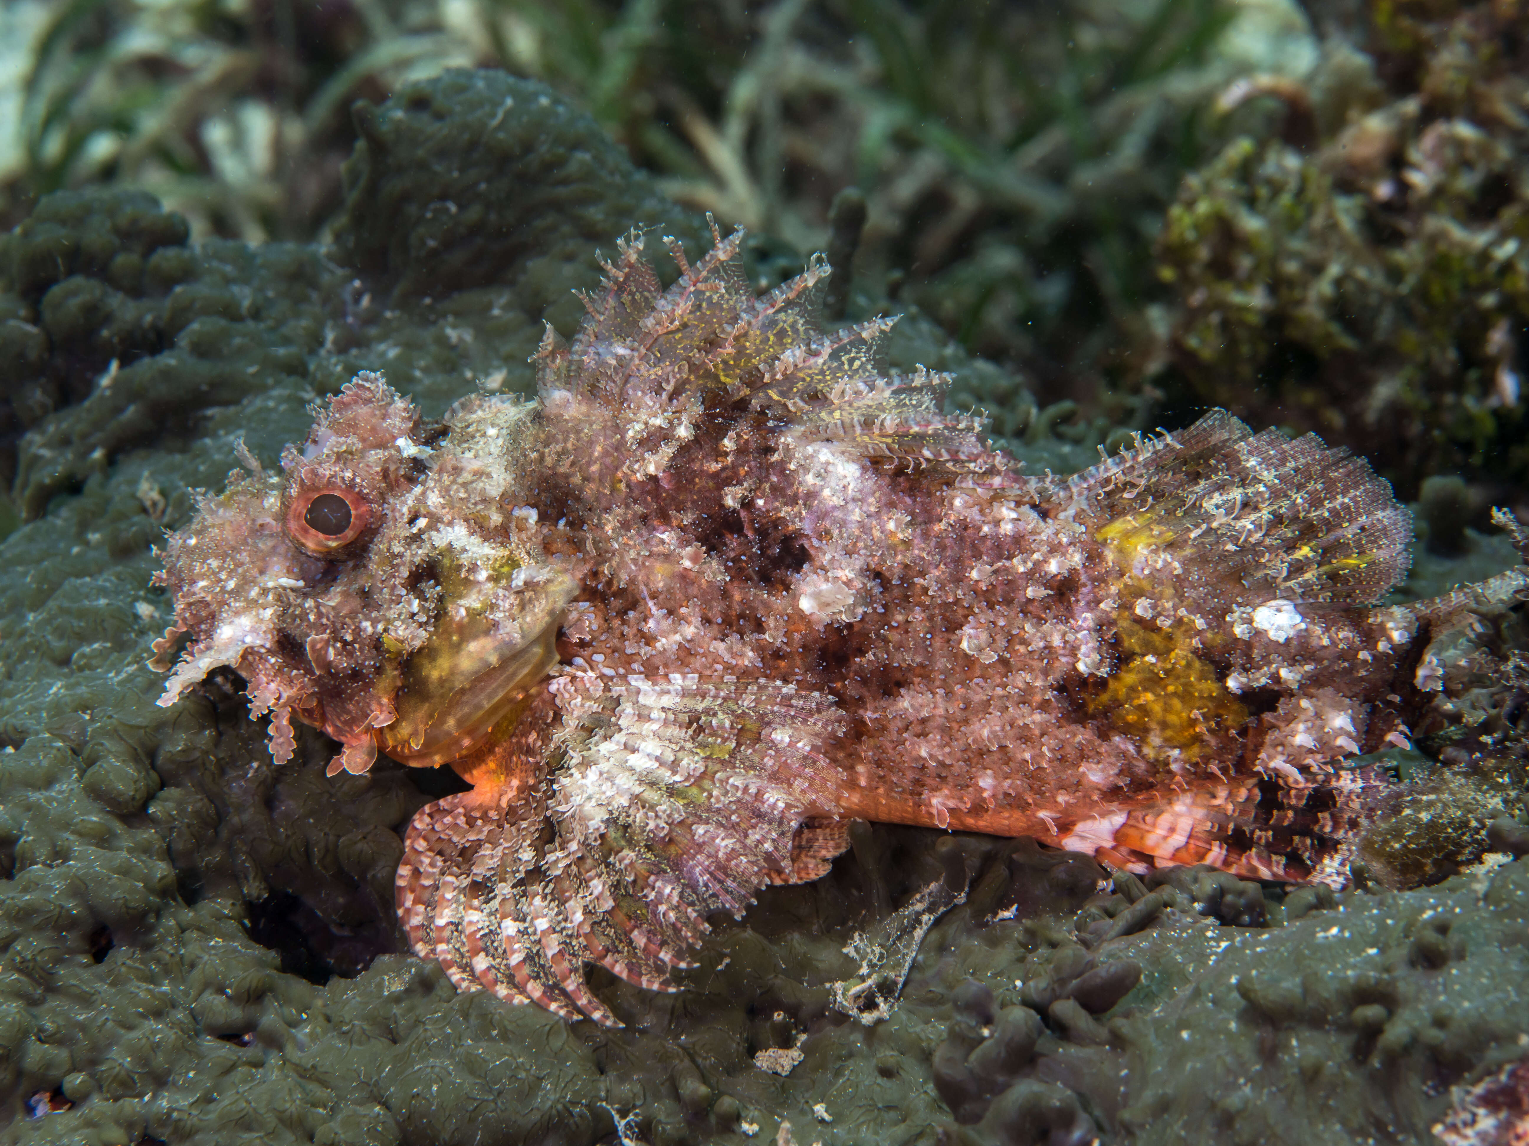
{"label": "orange, white and black banded anal fin under the fish's rear", "polygon": [[1075,822],[1055,843],[1135,872],[1208,863],[1248,879],[1341,888],[1361,833],[1394,792],[1379,769],[1249,776]]}

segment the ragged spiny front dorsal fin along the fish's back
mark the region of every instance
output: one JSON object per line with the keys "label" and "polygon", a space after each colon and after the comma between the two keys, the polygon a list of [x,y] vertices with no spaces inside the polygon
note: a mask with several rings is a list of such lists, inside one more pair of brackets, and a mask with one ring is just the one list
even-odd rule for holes
{"label": "ragged spiny front dorsal fin along the fish's back", "polygon": [[983,419],[942,413],[945,374],[885,373],[882,341],[896,319],[823,332],[821,257],[755,298],[743,231],[713,235],[716,246],[694,264],[670,241],[680,277],[662,292],[642,261],[642,235],[622,238],[601,289],[584,296],[589,318],[572,345],[549,329],[537,356],[543,396],[567,391],[638,420],[694,410],[711,394],[872,457],[965,471],[1009,465],[988,448]]}

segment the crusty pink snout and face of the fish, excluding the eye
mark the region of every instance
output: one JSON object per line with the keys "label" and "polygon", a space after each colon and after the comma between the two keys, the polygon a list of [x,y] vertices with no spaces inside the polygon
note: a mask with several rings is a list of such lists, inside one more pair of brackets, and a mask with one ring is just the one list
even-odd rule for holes
{"label": "crusty pink snout and face of the fish, excluding the eye", "polygon": [[[349,384],[300,448],[281,457],[283,474],[252,458],[219,498],[202,498],[196,520],[165,545],[159,584],[176,601],[176,623],[191,642],[161,704],[217,666],[245,677],[252,715],[272,714],[271,752],[292,756],[291,717],[344,746],[339,761],[370,766],[372,727],[391,720],[393,663],[388,633],[401,649],[417,648],[427,626],[413,617],[434,607],[427,571],[399,545],[401,515],[425,468],[405,448],[422,434],[414,408],[372,376]],[[368,527],[338,550],[315,553],[294,541],[292,507],[326,490],[346,490],[375,506]],[[428,620],[428,614],[427,614]]]}

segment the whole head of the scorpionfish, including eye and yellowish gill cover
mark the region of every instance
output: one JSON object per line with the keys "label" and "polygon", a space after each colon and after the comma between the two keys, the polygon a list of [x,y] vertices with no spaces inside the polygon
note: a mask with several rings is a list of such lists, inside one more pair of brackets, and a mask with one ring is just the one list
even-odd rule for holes
{"label": "whole head of the scorpionfish, including eye and yellowish gill cover", "polygon": [[176,622],[156,666],[190,640],[159,703],[229,668],[251,715],[272,714],[272,756],[292,756],[295,715],[341,743],[332,773],[379,749],[433,767],[508,730],[578,591],[514,497],[532,417],[471,399],[427,422],[367,373],[315,410],[280,472],[245,455],[249,472],[164,547]]}

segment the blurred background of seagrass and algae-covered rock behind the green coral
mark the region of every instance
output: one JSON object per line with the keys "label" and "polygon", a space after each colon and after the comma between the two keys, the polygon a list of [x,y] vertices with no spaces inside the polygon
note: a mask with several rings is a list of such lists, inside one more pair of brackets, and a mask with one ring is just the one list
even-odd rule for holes
{"label": "blurred background of seagrass and algae-covered rock behind the green coral", "polygon": [[1225,405],[1407,500],[1457,475],[1485,524],[1529,498],[1524,31],[1518,0],[11,0],[0,225],[110,183],[194,238],[313,240],[355,99],[503,67],[774,277],[853,254],[844,309],[1006,368],[953,396],[998,434]]}

